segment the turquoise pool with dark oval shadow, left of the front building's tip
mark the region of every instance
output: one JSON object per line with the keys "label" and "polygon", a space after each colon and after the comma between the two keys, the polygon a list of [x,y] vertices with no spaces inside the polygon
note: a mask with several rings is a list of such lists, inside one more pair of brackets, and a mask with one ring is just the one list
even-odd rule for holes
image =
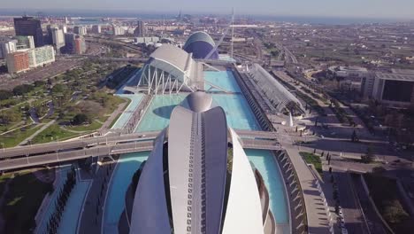
{"label": "turquoise pool with dark oval shadow, left of the front building's tip", "polygon": [[170,122],[173,108],[179,105],[188,94],[158,95],[152,98],[151,104],[142,121],[135,130],[137,132],[160,131]]}

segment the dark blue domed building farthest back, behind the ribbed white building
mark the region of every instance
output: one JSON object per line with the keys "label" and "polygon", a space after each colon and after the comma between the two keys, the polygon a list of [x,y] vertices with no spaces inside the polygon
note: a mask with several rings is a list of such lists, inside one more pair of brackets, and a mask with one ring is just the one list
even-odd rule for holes
{"label": "dark blue domed building farthest back, behind the ribbed white building", "polygon": [[[210,35],[204,32],[196,32],[190,35],[183,46],[183,50],[193,54],[193,58],[203,59],[214,50],[216,43]],[[219,59],[219,52],[214,51],[209,59]]]}

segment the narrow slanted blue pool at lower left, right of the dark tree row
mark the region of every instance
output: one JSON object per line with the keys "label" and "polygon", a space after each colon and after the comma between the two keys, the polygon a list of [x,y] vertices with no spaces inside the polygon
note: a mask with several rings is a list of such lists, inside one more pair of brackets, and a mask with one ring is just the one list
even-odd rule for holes
{"label": "narrow slanted blue pool at lower left, right of the dark tree row", "polygon": [[80,216],[83,201],[87,195],[90,181],[78,181],[67,199],[65,211],[58,228],[59,234],[76,233],[78,228],[78,218]]}

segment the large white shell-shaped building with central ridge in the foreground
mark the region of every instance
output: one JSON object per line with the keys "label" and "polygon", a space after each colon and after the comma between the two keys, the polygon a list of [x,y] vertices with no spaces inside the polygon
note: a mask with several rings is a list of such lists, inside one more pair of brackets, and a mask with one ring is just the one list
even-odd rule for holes
{"label": "large white shell-shaped building with central ridge in the foreground", "polygon": [[137,178],[119,222],[129,233],[276,233],[262,176],[204,92],[173,109]]}

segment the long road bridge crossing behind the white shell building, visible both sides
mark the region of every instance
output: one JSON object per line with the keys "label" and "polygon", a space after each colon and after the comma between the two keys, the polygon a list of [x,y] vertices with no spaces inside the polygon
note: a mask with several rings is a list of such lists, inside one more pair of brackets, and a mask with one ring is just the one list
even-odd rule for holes
{"label": "long road bridge crossing behind the white shell building, visible both sides", "polygon": [[[240,130],[239,130],[240,131]],[[96,156],[111,156],[127,152],[151,151],[159,132],[134,133],[120,136],[100,136],[87,139],[36,144],[4,149],[0,152],[0,170],[29,168]],[[280,150],[272,132],[240,131],[245,149]]]}

